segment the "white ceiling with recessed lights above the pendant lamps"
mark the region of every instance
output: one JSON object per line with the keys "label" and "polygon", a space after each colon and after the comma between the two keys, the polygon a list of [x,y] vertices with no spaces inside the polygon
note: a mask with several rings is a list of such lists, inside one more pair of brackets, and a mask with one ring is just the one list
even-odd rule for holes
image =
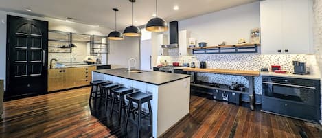
{"label": "white ceiling with recessed lights above the pendant lamps", "polygon": [[[182,20],[215,12],[257,0],[159,0],[158,14],[166,21]],[[56,19],[71,17],[78,23],[100,25],[114,29],[117,12],[118,30],[131,23],[131,5],[128,0],[0,0],[0,10],[19,12],[36,16],[47,16]],[[174,5],[179,10],[173,10]],[[26,12],[30,8],[32,12]],[[145,25],[155,12],[154,0],[137,0],[134,5],[134,23]]]}

